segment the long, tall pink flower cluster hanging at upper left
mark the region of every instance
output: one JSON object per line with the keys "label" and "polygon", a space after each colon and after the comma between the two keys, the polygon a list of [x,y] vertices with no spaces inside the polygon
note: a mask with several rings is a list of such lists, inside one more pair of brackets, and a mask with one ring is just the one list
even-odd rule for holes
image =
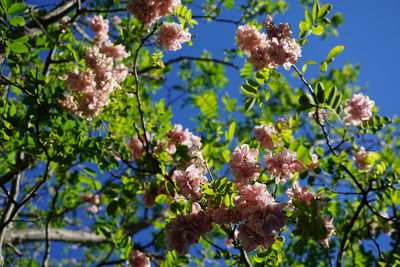
{"label": "long, tall pink flower cluster hanging at upper left", "polygon": [[128,76],[128,68],[123,64],[115,65],[114,61],[129,56],[122,45],[114,46],[109,41],[108,20],[95,16],[89,27],[95,33],[95,44],[86,52],[88,68],[62,77],[74,95],[59,100],[69,113],[86,118],[97,116],[109,104],[109,95],[120,88],[119,84]]}

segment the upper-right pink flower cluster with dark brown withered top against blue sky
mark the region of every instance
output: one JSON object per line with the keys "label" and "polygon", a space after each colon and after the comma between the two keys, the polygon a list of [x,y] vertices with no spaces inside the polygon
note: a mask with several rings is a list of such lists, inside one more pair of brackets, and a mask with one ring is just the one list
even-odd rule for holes
{"label": "upper-right pink flower cluster with dark brown withered top against blue sky", "polygon": [[256,71],[278,68],[280,65],[289,70],[301,57],[301,47],[292,38],[289,24],[282,23],[276,27],[271,16],[268,16],[264,25],[268,40],[254,26],[242,25],[236,31],[237,45],[250,55],[248,61]]}

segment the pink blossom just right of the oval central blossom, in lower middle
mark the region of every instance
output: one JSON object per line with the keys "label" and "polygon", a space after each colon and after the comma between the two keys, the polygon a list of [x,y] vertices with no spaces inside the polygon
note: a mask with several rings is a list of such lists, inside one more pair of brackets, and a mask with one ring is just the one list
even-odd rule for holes
{"label": "pink blossom just right of the oval central blossom, in lower middle", "polygon": [[269,153],[264,157],[269,173],[275,177],[277,184],[285,184],[287,178],[291,178],[294,172],[304,168],[302,162],[297,160],[296,152],[283,149],[281,152]]}

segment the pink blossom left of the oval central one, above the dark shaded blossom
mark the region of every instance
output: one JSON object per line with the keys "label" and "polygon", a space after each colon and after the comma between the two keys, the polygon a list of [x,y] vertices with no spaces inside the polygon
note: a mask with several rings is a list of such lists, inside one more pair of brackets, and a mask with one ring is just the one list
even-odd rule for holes
{"label": "pink blossom left of the oval central one, above the dark shaded blossom", "polygon": [[202,197],[201,186],[208,182],[203,172],[190,165],[185,171],[175,170],[172,179],[182,190],[182,195],[193,200],[199,200]]}

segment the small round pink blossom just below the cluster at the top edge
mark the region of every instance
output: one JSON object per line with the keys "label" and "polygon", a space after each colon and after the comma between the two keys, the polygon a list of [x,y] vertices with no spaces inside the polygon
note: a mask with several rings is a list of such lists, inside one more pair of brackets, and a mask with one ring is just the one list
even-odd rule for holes
{"label": "small round pink blossom just below the cluster at the top edge", "polygon": [[158,32],[157,43],[164,49],[176,51],[182,48],[182,43],[189,42],[191,35],[182,25],[175,22],[164,22]]}

